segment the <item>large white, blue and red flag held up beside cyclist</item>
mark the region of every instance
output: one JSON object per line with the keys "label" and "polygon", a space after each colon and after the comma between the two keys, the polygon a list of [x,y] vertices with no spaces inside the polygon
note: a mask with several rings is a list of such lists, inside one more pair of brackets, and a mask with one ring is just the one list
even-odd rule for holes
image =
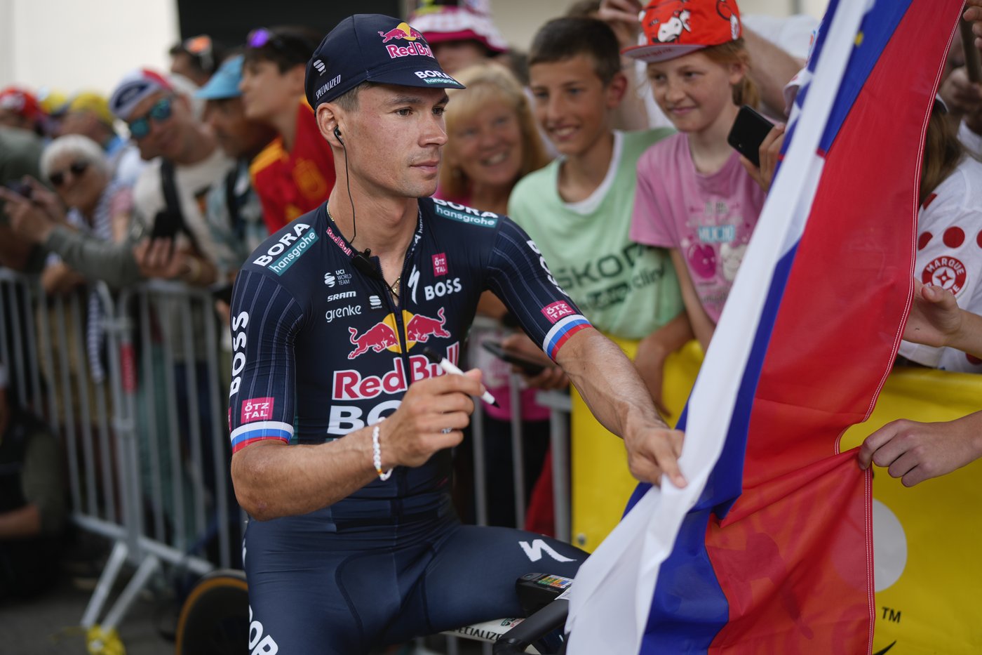
{"label": "large white, blue and red flag held up beside cyclist", "polygon": [[912,293],[921,153],[961,0],[830,3],[785,159],[689,396],[682,471],[576,576],[571,655],[868,653],[872,411]]}

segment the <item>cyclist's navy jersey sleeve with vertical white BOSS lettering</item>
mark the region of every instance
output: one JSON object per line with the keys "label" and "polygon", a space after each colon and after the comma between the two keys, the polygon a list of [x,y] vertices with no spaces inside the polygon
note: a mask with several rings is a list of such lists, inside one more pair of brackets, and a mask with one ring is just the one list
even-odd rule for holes
{"label": "cyclist's navy jersey sleeve with vertical white BOSS lettering", "polygon": [[289,443],[294,434],[294,338],[300,303],[278,280],[243,269],[232,296],[232,451],[266,439]]}

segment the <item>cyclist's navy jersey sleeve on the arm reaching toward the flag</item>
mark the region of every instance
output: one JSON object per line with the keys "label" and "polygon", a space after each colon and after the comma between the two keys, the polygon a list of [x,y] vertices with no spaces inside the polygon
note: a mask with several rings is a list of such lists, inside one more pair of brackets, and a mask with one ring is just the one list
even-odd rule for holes
{"label": "cyclist's navy jersey sleeve on the arm reaching toward the flag", "polygon": [[505,216],[491,251],[488,275],[488,287],[553,360],[573,334],[591,327],[556,282],[535,242]]}

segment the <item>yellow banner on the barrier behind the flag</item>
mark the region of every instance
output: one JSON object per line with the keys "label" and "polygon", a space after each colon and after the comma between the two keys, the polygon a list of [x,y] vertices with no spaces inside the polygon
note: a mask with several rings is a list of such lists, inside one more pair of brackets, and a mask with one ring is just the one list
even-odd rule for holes
{"label": "yellow banner on the barrier behind the flag", "polygon": [[[633,357],[636,341],[618,341]],[[664,396],[679,419],[702,352],[694,341],[666,366]],[[844,450],[899,418],[948,421],[982,409],[982,376],[899,369],[870,419],[852,426]],[[634,480],[620,439],[600,426],[573,392],[573,542],[592,551],[620,520]],[[886,469],[873,477],[876,629],[873,653],[982,652],[982,463],[905,488]]]}

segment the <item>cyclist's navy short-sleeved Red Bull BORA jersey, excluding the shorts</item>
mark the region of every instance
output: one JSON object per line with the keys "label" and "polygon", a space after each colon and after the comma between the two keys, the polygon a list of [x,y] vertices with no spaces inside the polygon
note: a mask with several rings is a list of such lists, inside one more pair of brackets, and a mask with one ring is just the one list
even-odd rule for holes
{"label": "cyclist's navy short-sleeved Red Bull BORA jersey, excluding the shorts", "polygon": [[[239,273],[233,451],[264,439],[323,443],[391,414],[409,384],[442,374],[424,347],[458,361],[486,289],[553,358],[589,327],[507,216],[420,200],[399,306],[383,279],[355,268],[353,254],[321,206],[270,237]],[[441,451],[417,468],[397,467],[393,479],[363,487],[330,512],[350,518],[431,510],[441,506],[450,470],[450,453]]]}

